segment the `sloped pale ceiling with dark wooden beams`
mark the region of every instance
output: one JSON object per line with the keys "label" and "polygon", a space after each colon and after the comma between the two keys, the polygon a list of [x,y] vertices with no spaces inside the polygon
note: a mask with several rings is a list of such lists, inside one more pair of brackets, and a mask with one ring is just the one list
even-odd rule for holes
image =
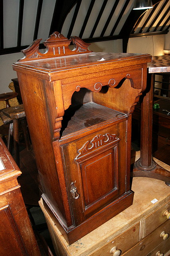
{"label": "sloped pale ceiling with dark wooden beams", "polygon": [[134,0],[0,0],[0,54],[19,52],[54,31],[86,42],[166,34],[169,0],[152,0],[149,10],[133,10]]}

